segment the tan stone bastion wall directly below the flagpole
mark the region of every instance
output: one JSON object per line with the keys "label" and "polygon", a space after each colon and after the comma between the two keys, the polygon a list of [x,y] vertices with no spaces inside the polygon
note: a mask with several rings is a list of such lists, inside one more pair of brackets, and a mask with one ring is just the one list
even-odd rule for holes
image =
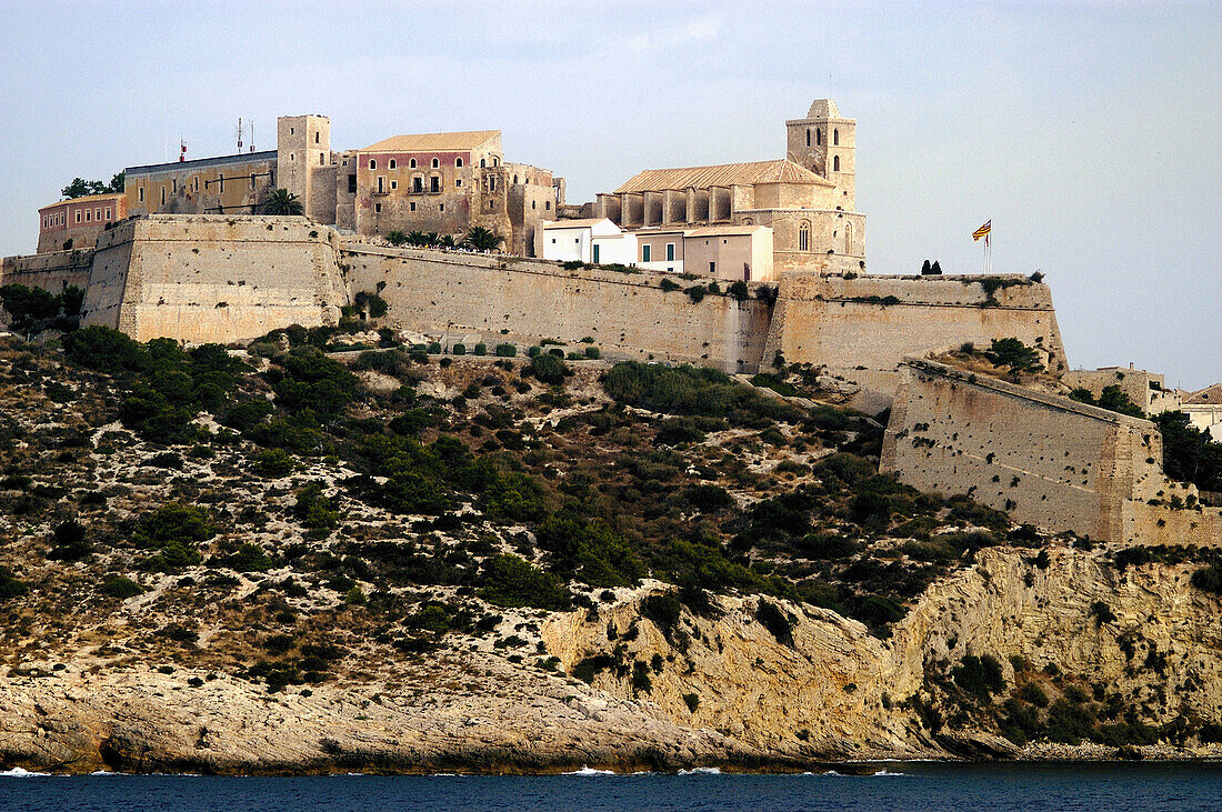
{"label": "tan stone bastion wall directly below the flagpole", "polygon": [[[1026,277],[990,302],[980,276],[819,276],[789,274],[765,348],[787,363],[826,365],[866,388],[892,393],[909,354],[964,342],[989,346],[1015,337],[1066,365],[1064,344],[1046,285]],[[893,297],[893,299],[888,299]]]}

